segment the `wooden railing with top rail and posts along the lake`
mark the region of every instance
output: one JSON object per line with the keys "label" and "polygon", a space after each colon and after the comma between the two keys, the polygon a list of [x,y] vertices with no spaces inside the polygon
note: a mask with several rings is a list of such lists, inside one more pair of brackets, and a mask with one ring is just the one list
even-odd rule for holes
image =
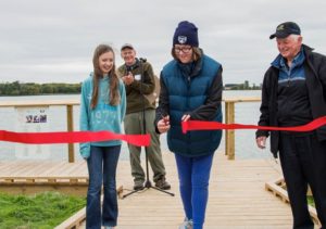
{"label": "wooden railing with top rail and posts along the lake", "polygon": [[[235,104],[239,102],[260,102],[260,98],[237,98],[225,99],[225,123],[235,123]],[[0,107],[37,107],[37,106],[66,106],[66,127],[67,131],[74,131],[74,105],[79,105],[79,100],[60,101],[0,101]],[[235,160],[235,130],[225,131],[225,154],[229,160]],[[73,143],[67,144],[68,162],[75,162],[75,149]]]}

